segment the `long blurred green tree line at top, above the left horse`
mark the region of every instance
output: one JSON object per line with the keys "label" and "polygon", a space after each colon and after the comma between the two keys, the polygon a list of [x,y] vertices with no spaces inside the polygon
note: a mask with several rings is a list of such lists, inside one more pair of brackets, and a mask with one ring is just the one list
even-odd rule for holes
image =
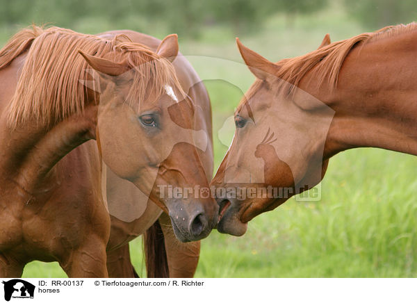
{"label": "long blurred green tree line at top, above the left horse", "polygon": [[[51,23],[72,27],[79,20],[106,20],[113,28],[147,31],[165,24],[172,32],[197,36],[204,26],[229,26],[234,33],[255,31],[270,15],[311,13],[328,0],[0,0],[0,26]],[[126,21],[128,20],[128,21]],[[136,22],[130,22],[133,20]],[[134,24],[132,24],[134,23]],[[132,25],[131,25],[132,24]],[[139,24],[139,25],[138,25]],[[147,24],[142,28],[140,24]]]}

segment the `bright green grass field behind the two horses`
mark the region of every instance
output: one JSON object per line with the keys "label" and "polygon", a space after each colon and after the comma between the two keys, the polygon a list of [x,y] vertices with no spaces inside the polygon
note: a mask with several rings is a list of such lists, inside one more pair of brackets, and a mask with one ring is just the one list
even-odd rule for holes
{"label": "bright green grass field behind the two horses", "polygon": [[[111,28],[80,25],[78,31]],[[387,24],[388,25],[388,24]],[[89,25],[90,26],[90,25]],[[97,30],[96,30],[97,29]],[[366,31],[332,8],[295,20],[275,16],[262,31],[242,41],[270,60],[316,49],[325,33],[341,40]],[[157,33],[162,38],[165,33]],[[6,33],[0,31],[0,39]],[[240,61],[234,36],[226,28],[209,28],[202,40],[181,40],[183,54]],[[245,90],[250,72],[221,65],[200,65],[204,74],[218,69],[219,79],[236,79]],[[206,83],[213,106],[215,168],[227,150],[218,130],[232,115],[240,90],[224,81]],[[355,149],[332,158],[320,202],[289,200],[250,222],[243,237],[213,231],[202,241],[196,277],[417,277],[417,158],[379,149]],[[131,245],[133,263],[142,276],[141,241]],[[24,277],[65,277],[56,263],[33,262]]]}

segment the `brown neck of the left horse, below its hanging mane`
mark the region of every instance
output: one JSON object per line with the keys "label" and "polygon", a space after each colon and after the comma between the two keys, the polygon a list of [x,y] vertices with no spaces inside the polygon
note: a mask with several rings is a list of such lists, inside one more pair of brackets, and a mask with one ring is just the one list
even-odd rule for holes
{"label": "brown neck of the left horse, below its hanging mane", "polygon": [[1,116],[0,177],[12,180],[25,193],[33,194],[61,158],[72,149],[95,139],[97,106],[87,106],[82,115],[50,126],[37,122],[10,129]]}

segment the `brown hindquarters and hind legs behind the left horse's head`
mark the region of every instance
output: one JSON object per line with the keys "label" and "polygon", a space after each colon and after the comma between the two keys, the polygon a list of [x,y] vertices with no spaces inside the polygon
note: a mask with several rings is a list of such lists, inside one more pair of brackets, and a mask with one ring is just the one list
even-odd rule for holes
{"label": "brown hindquarters and hind legs behind the left horse's head", "polygon": [[[100,34],[108,39],[115,35],[127,35],[132,41],[145,44],[156,51],[161,40],[134,31],[112,31]],[[193,67],[180,53],[172,62],[177,78],[195,106],[201,108],[194,112],[195,129],[204,129],[208,134],[206,151],[197,149],[206,178],[213,176],[213,142],[211,140],[211,106],[206,88]],[[120,197],[124,197],[120,199]],[[138,203],[143,194],[129,181],[117,177],[111,170],[107,173],[107,200],[109,208],[122,209],[122,217],[129,211],[133,217],[120,218],[120,212],[111,211],[111,234],[107,249],[107,268],[109,277],[135,277],[129,256],[129,241],[145,234],[145,256],[147,277],[193,277],[199,259],[199,241],[181,243],[172,232],[170,218],[162,213],[153,202]],[[142,201],[143,202],[143,201]],[[126,206],[132,206],[126,208]],[[146,208],[144,207],[146,206]],[[135,211],[131,211],[135,209]],[[113,215],[112,215],[113,213]],[[136,213],[143,213],[141,216]],[[152,225],[158,218],[161,217]],[[149,226],[152,227],[150,229]]]}

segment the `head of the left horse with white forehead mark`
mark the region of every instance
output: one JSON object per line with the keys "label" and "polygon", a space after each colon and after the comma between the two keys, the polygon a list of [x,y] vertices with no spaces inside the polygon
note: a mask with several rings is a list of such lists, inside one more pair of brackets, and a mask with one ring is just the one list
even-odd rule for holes
{"label": "head of the left horse with white forehead mark", "polygon": [[170,215],[179,240],[204,238],[217,223],[218,206],[213,197],[182,191],[208,188],[197,149],[206,151],[210,138],[196,126],[199,108],[171,64],[177,35],[167,36],[156,53],[139,44],[118,48],[102,58],[81,53],[99,74],[97,142],[103,161]]}

